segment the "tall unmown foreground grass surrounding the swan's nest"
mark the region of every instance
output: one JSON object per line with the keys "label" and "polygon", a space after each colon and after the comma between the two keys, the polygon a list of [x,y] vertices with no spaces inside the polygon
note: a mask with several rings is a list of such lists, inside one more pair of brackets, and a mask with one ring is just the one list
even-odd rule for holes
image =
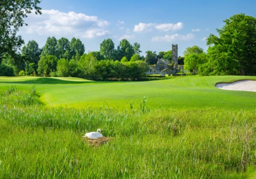
{"label": "tall unmown foreground grass surrounding the swan's nest", "polygon": [[[256,166],[255,110],[47,107],[16,92],[1,94],[0,178],[243,179]],[[87,144],[98,128],[114,140]]]}

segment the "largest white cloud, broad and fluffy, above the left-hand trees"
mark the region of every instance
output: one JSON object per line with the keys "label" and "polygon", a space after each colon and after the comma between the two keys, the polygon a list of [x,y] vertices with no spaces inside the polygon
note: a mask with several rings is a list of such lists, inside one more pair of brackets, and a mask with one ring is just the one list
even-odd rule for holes
{"label": "largest white cloud, broad and fluffy, above the left-hand trees", "polygon": [[27,33],[39,35],[73,35],[81,38],[94,38],[109,33],[104,28],[110,23],[97,16],[83,13],[60,12],[59,10],[41,10],[42,15],[29,14]]}

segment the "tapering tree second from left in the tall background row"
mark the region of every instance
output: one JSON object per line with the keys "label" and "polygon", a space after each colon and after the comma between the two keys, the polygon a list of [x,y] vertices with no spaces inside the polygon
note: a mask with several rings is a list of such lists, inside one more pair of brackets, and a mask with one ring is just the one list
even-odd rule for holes
{"label": "tapering tree second from left in the tall background row", "polygon": [[43,47],[41,56],[48,56],[48,55],[54,55],[56,57],[58,56],[57,39],[55,37],[52,37],[52,38],[48,37]]}

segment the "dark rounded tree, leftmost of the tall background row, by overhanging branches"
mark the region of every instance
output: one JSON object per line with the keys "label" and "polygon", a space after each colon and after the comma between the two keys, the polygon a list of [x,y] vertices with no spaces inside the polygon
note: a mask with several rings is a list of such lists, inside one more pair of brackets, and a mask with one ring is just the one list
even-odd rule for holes
{"label": "dark rounded tree, leftmost of the tall background row, by overhanging branches", "polygon": [[38,43],[34,40],[29,40],[28,43],[23,46],[21,50],[22,56],[26,56],[28,62],[37,64],[40,60],[40,54],[42,49],[38,47]]}

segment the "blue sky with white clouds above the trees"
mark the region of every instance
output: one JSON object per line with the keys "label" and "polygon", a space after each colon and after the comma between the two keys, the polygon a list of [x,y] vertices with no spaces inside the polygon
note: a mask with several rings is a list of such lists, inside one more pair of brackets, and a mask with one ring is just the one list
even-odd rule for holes
{"label": "blue sky with white clouds above the trees", "polygon": [[190,46],[207,50],[205,38],[216,34],[223,20],[237,13],[256,17],[256,0],[42,0],[42,15],[30,14],[19,34],[25,43],[42,47],[47,37],[79,38],[87,51],[100,43],[122,38],[138,42],[145,51],[168,51],[178,44],[178,55]]}

